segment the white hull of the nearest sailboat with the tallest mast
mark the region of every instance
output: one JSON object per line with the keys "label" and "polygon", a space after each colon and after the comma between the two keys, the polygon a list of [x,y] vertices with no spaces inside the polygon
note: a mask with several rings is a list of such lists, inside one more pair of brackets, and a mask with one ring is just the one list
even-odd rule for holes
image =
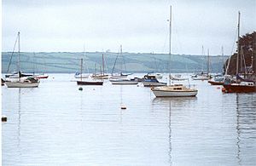
{"label": "white hull of the nearest sailboat with the tallest mast", "polygon": [[177,91],[160,91],[160,90],[152,90],[156,97],[189,97],[195,96],[197,91],[191,92],[177,92]]}

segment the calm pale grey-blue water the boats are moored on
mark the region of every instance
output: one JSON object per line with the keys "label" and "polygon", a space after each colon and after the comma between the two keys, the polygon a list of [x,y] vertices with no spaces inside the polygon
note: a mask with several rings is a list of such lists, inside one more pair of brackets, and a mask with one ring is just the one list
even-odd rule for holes
{"label": "calm pale grey-blue water the boats are moored on", "polygon": [[[3,165],[255,165],[256,94],[191,81],[196,98],[136,85],[79,86],[52,74],[2,87]],[[127,106],[120,109],[120,104]]]}

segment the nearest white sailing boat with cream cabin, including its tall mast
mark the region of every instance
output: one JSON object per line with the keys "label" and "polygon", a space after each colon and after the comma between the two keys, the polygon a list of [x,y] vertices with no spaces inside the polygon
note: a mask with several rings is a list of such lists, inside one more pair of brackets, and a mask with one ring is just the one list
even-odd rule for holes
{"label": "nearest white sailing boat with cream cabin, including its tall mast", "polygon": [[[169,63],[171,64],[171,37],[172,37],[172,6],[170,6],[170,37],[169,37]],[[171,85],[171,66],[169,64],[169,85],[151,88],[156,97],[188,97],[195,96],[197,89],[190,89],[183,84]]]}

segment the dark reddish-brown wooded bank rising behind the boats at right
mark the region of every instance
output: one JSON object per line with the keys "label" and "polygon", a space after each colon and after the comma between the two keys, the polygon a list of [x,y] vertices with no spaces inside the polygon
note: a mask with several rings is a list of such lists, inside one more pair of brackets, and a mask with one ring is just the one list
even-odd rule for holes
{"label": "dark reddish-brown wooded bank rising behind the boats at right", "polygon": [[[239,73],[245,71],[245,66],[252,66],[253,71],[256,72],[256,31],[251,34],[246,34],[239,38],[239,45],[241,48],[241,57],[239,58]],[[252,61],[253,56],[253,61]],[[244,58],[243,58],[244,57]],[[228,68],[228,74],[236,74],[236,60],[237,53],[233,54],[230,58],[230,66]],[[226,60],[225,64],[228,65],[229,60]],[[244,65],[244,63],[246,65]]]}

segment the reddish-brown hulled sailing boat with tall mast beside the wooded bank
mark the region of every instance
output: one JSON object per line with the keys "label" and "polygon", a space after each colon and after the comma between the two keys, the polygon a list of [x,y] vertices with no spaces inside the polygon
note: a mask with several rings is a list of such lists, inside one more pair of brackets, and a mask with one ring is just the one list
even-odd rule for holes
{"label": "reddish-brown hulled sailing boat with tall mast beside the wooded bank", "polygon": [[[237,24],[237,58],[236,58],[236,83],[230,83],[229,79],[224,80],[224,92],[226,93],[250,93],[256,92],[256,83],[239,76],[239,58],[241,56],[240,38],[240,11],[238,12]],[[253,61],[253,60],[252,60]],[[253,63],[252,63],[253,65]],[[246,72],[246,70],[245,70]]]}

